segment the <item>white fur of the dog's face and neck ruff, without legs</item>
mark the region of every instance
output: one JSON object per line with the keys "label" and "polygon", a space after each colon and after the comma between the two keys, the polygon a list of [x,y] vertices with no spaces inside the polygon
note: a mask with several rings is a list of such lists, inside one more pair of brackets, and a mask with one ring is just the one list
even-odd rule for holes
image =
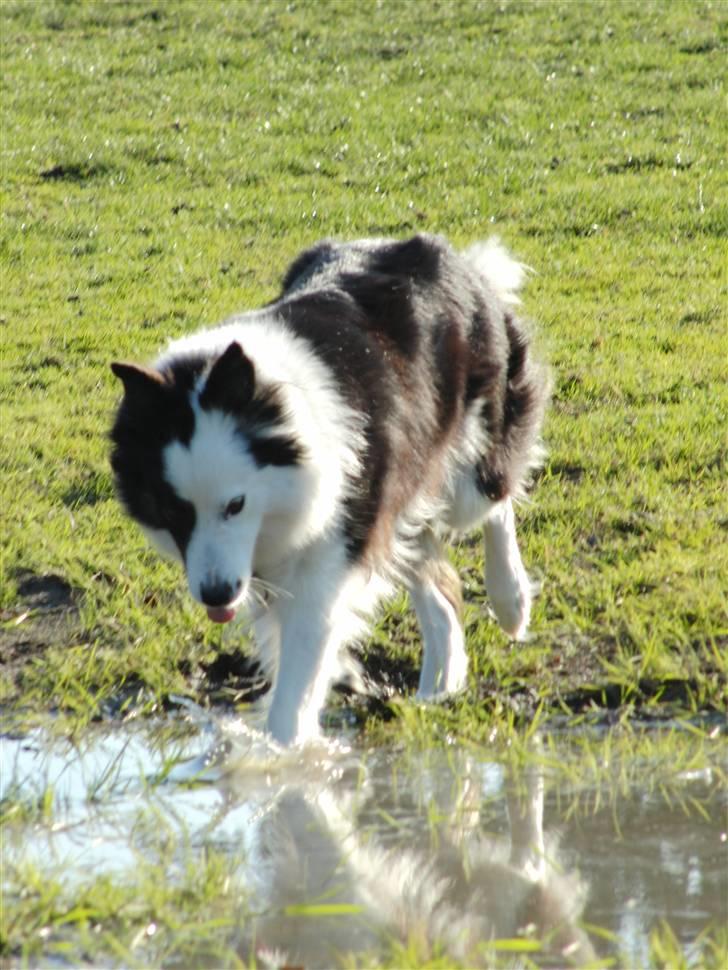
{"label": "white fur of the dog's face and neck ruff, without legs", "polygon": [[[302,341],[254,315],[172,343],[156,366],[201,351],[221,353],[236,340],[255,361],[259,379],[281,387],[291,429],[307,443],[313,460],[291,468],[258,468],[236,441],[233,419],[205,411],[196,401],[189,446],[174,441],[164,449],[165,477],[197,515],[186,557],[190,592],[203,602],[203,585],[221,580],[235,587],[242,580],[232,605],[246,599],[254,570],[275,572],[333,526],[347,474],[358,468],[354,445],[360,433],[358,415],[324,365]],[[240,494],[245,495],[243,511],[226,520],[227,504]],[[170,551],[166,533],[147,534],[162,552]]]}

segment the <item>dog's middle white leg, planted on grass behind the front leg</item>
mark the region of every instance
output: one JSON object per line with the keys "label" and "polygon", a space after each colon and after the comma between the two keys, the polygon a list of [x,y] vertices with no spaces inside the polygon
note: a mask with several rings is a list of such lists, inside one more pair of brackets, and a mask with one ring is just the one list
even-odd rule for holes
{"label": "dog's middle white leg, planted on grass behind the front leg", "polygon": [[423,533],[420,541],[424,558],[408,588],[422,631],[424,656],[417,696],[424,700],[462,690],[468,656],[460,622],[460,577],[431,532]]}

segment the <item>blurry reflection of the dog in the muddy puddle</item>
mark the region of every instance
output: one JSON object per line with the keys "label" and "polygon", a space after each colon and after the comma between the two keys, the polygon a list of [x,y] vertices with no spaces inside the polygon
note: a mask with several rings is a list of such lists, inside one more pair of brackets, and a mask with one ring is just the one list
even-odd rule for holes
{"label": "blurry reflection of the dog in the muddy puddle", "polygon": [[420,804],[418,822],[402,820],[401,795],[399,821],[388,814],[385,780],[284,788],[252,840],[258,965],[330,967],[396,941],[417,959],[487,966],[497,941],[516,938],[549,966],[592,962],[579,925],[586,889],[544,834],[539,771],[526,769],[520,787],[506,779],[503,834],[483,830],[481,784],[458,778],[457,794]]}

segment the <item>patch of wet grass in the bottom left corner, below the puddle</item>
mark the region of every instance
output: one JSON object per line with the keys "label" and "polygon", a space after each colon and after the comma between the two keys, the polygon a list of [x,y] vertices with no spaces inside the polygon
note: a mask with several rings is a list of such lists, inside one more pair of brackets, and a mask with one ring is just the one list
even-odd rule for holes
{"label": "patch of wet grass in the bottom left corner, below the puddle", "polygon": [[169,840],[152,848],[121,876],[80,886],[68,885],[64,866],[8,867],[4,953],[22,966],[79,956],[86,965],[243,966],[231,942],[248,915],[240,859]]}

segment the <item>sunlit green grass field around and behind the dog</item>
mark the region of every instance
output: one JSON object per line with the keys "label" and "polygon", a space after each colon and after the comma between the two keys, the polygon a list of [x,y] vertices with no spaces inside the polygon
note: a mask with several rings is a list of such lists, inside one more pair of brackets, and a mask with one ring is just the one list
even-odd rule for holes
{"label": "sunlit green grass field around and behind the dog", "polygon": [[[245,701],[244,644],[114,497],[109,363],[272,299],[322,236],[417,231],[497,234],[533,267],[523,311],[554,395],[519,533],[542,589],[509,644],[480,543],[461,543],[469,691],[353,704],[361,736],[724,714],[728,4],[5,0],[0,27],[13,731]],[[363,652],[411,685],[404,599]],[[0,958],[37,956],[47,914],[7,912]]]}

